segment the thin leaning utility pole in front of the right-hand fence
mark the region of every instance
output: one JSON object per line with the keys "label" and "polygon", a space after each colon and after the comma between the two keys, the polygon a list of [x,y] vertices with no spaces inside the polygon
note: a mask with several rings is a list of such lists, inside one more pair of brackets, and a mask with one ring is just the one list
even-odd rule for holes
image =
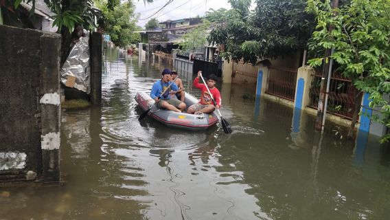
{"label": "thin leaning utility pole in front of the right-hand fence", "polygon": [[[332,0],[332,8],[338,8],[339,7],[339,0]],[[329,32],[332,32],[334,30],[334,26],[330,25]],[[325,50],[325,58],[329,58],[332,55],[332,49]],[[325,96],[327,93],[327,82],[330,80],[330,74],[329,72],[332,71],[330,69],[330,61],[325,62],[322,69],[322,77],[321,77],[321,89],[319,93],[319,101],[318,101],[318,110],[317,110],[317,118],[316,118],[316,125],[315,129],[317,131],[323,131],[323,121],[324,121],[324,112],[325,109]]]}

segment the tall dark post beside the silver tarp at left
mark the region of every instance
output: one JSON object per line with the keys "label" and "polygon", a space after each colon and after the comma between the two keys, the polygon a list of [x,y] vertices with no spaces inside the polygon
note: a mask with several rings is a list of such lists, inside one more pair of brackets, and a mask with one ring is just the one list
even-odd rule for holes
{"label": "tall dark post beside the silver tarp at left", "polygon": [[102,34],[93,32],[89,39],[91,62],[91,102],[102,103]]}

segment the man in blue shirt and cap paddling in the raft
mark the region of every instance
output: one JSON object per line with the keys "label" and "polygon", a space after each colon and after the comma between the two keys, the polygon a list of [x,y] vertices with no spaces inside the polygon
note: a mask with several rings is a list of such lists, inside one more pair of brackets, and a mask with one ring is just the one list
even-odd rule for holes
{"label": "man in blue shirt and cap paddling in the raft", "polygon": [[[161,80],[154,83],[152,91],[150,91],[150,97],[156,101],[159,109],[181,112],[187,105],[184,102],[181,102],[181,100],[171,98],[170,93],[172,90],[177,91],[178,87],[176,83],[173,82],[170,69],[164,69],[161,73]],[[163,91],[165,91],[165,93],[161,94]]]}

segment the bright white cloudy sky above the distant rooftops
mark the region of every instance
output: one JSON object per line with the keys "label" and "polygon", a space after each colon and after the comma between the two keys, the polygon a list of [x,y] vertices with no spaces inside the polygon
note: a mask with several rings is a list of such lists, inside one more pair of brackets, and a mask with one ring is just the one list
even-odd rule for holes
{"label": "bright white cloudy sky above the distant rooftops", "polygon": [[[227,3],[227,0],[171,0],[171,3],[163,8],[163,5],[169,1],[154,0],[153,3],[146,3],[144,5],[143,0],[134,0],[135,12],[141,14],[138,25],[145,28],[145,24],[153,18],[159,21],[166,21],[168,19],[176,20],[196,17],[197,15],[203,17],[209,8],[214,10],[218,10],[219,8],[231,9],[231,5]],[[161,8],[163,9],[160,10]]]}

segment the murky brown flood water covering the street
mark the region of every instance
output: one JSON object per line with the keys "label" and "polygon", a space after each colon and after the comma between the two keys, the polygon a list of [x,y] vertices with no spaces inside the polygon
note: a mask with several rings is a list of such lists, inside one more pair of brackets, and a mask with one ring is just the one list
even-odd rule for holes
{"label": "murky brown flood water covering the street", "polygon": [[[139,122],[133,97],[163,68],[108,53],[102,107],[62,110],[64,183],[0,188],[0,219],[389,219],[377,137],[347,141],[330,122],[321,136],[314,116],[236,85],[218,85],[230,135]],[[192,74],[179,77],[199,95]]]}

